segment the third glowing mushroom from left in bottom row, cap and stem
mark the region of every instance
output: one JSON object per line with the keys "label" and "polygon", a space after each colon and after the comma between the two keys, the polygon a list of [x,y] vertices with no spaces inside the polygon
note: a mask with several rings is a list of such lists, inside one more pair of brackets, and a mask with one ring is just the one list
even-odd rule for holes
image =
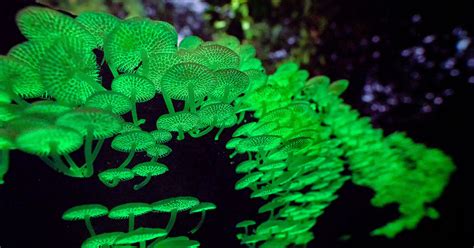
{"label": "third glowing mushroom from left in bottom row, cap and stem", "polygon": [[169,233],[176,222],[178,212],[189,210],[199,204],[199,200],[191,196],[178,196],[152,204],[153,210],[158,212],[170,213],[170,219],[166,225],[166,231]]}

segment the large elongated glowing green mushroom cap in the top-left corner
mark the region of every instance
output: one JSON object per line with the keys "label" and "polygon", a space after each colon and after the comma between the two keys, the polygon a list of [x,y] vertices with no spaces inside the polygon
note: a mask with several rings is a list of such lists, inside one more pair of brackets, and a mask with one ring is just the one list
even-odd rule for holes
{"label": "large elongated glowing green mushroom cap in the top-left corner", "polygon": [[72,17],[49,8],[26,7],[16,15],[16,23],[28,40],[55,44],[67,36],[87,44],[91,51],[95,46],[93,36]]}

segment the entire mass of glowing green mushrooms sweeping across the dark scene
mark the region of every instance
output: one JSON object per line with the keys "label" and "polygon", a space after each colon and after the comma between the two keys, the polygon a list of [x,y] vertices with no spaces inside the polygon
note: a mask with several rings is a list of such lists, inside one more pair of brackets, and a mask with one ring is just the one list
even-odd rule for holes
{"label": "entire mass of glowing green mushrooms sweeping across the dark scene", "polygon": [[[401,217],[374,235],[393,237],[424,216],[439,215],[429,204],[454,170],[450,158],[401,133],[384,137],[341,100],[346,80],[309,78],[291,62],[268,76],[255,48],[235,37],[204,42],[188,36],[178,43],[172,25],[146,18],[121,20],[96,12],[74,18],[28,7],[18,13],[17,24],[27,41],[0,57],[0,183],[14,149],[38,156],[64,175],[92,177],[94,162],[111,139],[113,150],[128,155],[100,171],[99,179],[115,187],[140,176],[138,190],[169,170],[158,159],[171,153],[166,143],[173,133],[183,140],[217,130],[217,140],[224,129],[240,125],[226,145],[234,150],[231,158],[245,158],[235,168],[243,175],[235,189],[250,189],[251,198],[266,201],[259,213],[268,215],[261,223],[237,224],[244,245],[308,244],[318,216],[348,180],[373,189],[377,207],[400,204]],[[157,118],[154,130],[144,130],[149,121],[140,118],[137,105],[157,97],[167,113]],[[249,112],[252,122],[246,120]],[[84,158],[78,162],[81,148]],[[137,153],[146,153],[149,161],[128,168]],[[110,212],[84,205],[64,219],[86,221],[93,237],[84,247],[146,247],[152,239],[151,247],[198,246],[185,237],[167,237],[176,213],[191,209],[204,217],[215,206],[190,198],[165,201],[130,203]],[[171,213],[167,228],[134,229],[134,217],[151,211]],[[129,218],[129,232],[95,235],[90,218],[106,214]]]}

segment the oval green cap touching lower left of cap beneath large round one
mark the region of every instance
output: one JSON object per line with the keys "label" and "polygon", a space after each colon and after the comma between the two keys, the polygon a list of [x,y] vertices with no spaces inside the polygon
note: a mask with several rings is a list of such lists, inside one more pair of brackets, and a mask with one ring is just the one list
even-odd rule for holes
{"label": "oval green cap touching lower left of cap beneath large round one", "polygon": [[120,92],[100,91],[90,96],[85,106],[112,111],[117,115],[128,113],[132,109],[130,99]]}

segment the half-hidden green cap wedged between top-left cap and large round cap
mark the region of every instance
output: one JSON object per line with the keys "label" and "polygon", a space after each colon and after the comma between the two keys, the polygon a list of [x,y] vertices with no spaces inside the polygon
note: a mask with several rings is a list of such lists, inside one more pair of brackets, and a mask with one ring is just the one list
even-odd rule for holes
{"label": "half-hidden green cap wedged between top-left cap and large round cap", "polygon": [[96,46],[102,48],[104,39],[120,23],[120,19],[106,12],[83,11],[75,19],[94,37]]}

